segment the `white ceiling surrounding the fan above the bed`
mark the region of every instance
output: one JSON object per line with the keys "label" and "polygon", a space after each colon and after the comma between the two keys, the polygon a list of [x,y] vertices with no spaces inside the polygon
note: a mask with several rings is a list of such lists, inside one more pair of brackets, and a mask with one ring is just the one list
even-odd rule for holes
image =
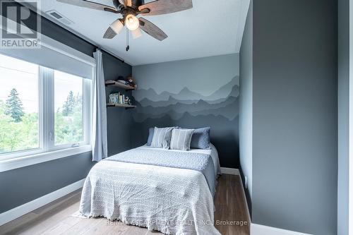
{"label": "white ceiling surrounding the fan above the bed", "polygon": [[[111,0],[91,0],[112,5]],[[130,40],[126,52],[123,30],[112,40],[103,39],[105,30],[120,14],[42,1],[42,12],[56,10],[72,20],[71,32],[85,37],[132,66],[200,58],[239,52],[250,0],[193,0],[193,8],[161,16],[144,16],[168,37],[160,42],[143,33]],[[145,1],[147,2],[147,1]]]}

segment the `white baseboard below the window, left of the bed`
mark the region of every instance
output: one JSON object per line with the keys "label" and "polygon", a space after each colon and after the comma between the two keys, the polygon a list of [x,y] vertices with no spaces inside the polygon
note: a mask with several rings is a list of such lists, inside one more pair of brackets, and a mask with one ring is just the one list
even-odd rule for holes
{"label": "white baseboard below the window, left of the bed", "polygon": [[78,190],[78,188],[83,187],[83,183],[85,182],[85,179],[81,179],[80,181],[77,181],[75,183],[71,183],[70,185],[60,188],[52,193],[48,193],[47,195],[44,195],[40,198],[37,198],[35,200],[32,200],[28,203],[25,203],[23,205],[20,205],[18,207],[15,207],[11,210],[8,210],[4,213],[0,214],[0,226],[3,224],[6,224],[7,222],[10,222],[13,219],[16,219],[18,217],[21,217],[28,212],[31,212],[32,210],[35,210],[39,207],[42,207],[43,205],[46,205],[48,203],[52,203],[52,201],[59,199],[63,197],[64,195],[67,195],[68,193],[72,193],[73,191]]}

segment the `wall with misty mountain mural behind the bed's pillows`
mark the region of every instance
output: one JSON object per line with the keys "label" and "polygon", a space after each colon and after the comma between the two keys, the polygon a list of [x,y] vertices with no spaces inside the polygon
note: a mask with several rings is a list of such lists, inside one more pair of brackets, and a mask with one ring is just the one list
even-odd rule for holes
{"label": "wall with misty mountain mural behind the bed's pillows", "polygon": [[133,77],[134,146],[153,126],[210,126],[221,166],[239,167],[239,54],[134,66]]}

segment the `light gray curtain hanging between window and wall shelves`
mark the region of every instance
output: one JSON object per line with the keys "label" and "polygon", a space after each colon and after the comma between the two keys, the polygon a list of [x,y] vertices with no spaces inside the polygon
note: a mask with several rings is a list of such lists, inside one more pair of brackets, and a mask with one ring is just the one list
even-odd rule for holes
{"label": "light gray curtain hanging between window and wall shelves", "polygon": [[93,53],[96,61],[92,79],[92,161],[99,162],[108,156],[107,107],[104,86],[102,52]]}

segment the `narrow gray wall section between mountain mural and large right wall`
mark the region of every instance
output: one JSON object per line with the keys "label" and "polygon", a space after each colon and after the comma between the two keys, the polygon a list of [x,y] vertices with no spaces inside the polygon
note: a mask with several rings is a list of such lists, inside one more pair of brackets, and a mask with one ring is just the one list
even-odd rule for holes
{"label": "narrow gray wall section between mountain mural and large right wall", "polygon": [[239,54],[239,159],[246,201],[251,211],[253,188],[253,2],[250,2]]}

